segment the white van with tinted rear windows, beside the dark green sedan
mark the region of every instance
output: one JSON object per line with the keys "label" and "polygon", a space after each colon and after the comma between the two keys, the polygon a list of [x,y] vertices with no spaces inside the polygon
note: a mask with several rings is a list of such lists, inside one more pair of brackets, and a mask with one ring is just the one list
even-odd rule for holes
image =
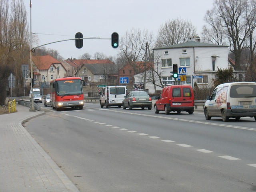
{"label": "white van with tinted rear windows, beside the dark green sedan", "polygon": [[121,107],[126,97],[126,86],[106,86],[100,92],[100,107],[110,106]]}

